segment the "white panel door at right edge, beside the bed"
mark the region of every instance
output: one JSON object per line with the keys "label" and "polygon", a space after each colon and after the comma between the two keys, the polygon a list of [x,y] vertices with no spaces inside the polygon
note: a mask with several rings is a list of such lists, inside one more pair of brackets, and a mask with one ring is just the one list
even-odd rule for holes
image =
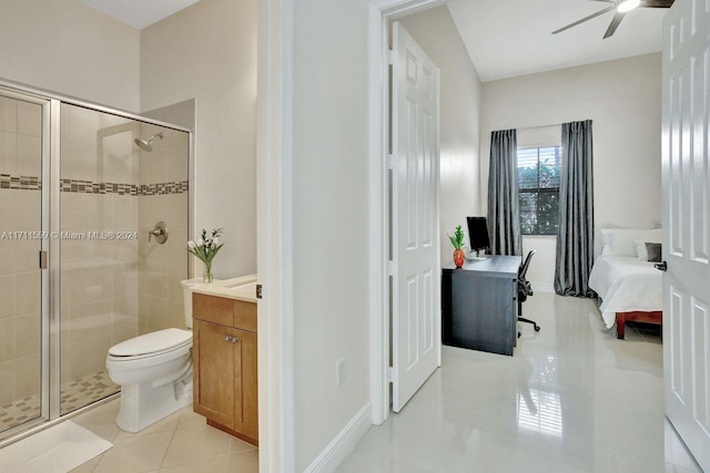
{"label": "white panel door at right edge, beside the bed", "polygon": [[710,472],[710,1],[663,22],[666,413]]}

